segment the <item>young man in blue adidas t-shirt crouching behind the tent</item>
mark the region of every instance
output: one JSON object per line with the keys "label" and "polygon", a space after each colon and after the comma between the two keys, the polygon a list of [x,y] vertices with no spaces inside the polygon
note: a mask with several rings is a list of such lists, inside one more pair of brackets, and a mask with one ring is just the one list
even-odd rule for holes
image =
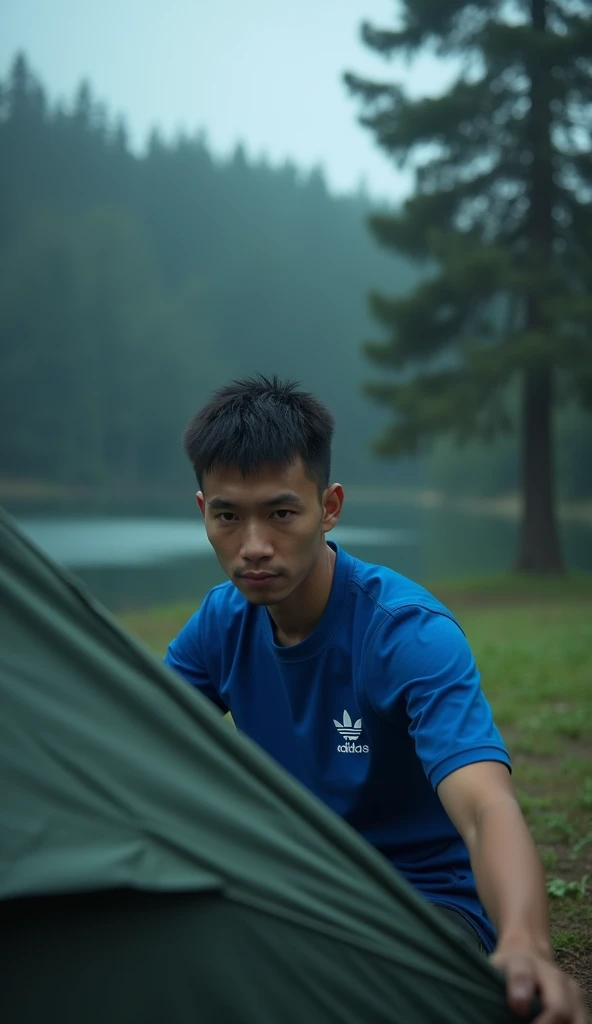
{"label": "young man in blue adidas t-shirt crouching behind the tent", "polygon": [[461,627],[421,587],[327,541],[343,504],[332,435],[314,397],[263,377],[222,388],[188,425],[230,583],[166,662],[495,949],[516,1013],[538,990],[540,1024],[585,1024],[552,964],[543,871]]}

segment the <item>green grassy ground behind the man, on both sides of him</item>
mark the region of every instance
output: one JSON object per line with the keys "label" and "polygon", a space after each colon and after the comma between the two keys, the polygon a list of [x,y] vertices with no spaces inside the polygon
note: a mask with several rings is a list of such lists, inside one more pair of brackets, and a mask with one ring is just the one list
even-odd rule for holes
{"label": "green grassy ground behind the man, on both sides of him", "polygon": [[[592,998],[592,578],[428,584],[458,615],[545,865],[557,959]],[[126,614],[162,654],[194,611]]]}

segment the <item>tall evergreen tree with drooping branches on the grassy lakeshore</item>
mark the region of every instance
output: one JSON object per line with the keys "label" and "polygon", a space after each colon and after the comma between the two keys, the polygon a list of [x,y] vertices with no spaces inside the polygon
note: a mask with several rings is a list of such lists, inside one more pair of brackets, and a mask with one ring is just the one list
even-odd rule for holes
{"label": "tall evergreen tree with drooping branches on the grassy lakeshore", "polygon": [[460,70],[446,94],[419,100],[346,75],[363,123],[416,171],[414,196],[372,228],[435,268],[409,297],[371,297],[389,338],[367,351],[396,374],[369,388],[393,414],[379,446],[511,428],[519,381],[515,567],[560,571],[553,412],[565,393],[592,409],[592,2],[400,0],[399,11],[392,31],[363,27],[368,46],[435,51]]}

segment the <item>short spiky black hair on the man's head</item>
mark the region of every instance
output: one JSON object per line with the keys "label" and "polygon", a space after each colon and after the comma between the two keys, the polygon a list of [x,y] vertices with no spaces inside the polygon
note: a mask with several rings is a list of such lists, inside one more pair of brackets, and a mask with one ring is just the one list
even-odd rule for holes
{"label": "short spiky black hair on the man's head", "polygon": [[248,476],[262,466],[285,469],[302,459],[321,489],[329,485],[334,420],[312,394],[291,380],[262,374],[216,391],[188,423],[183,449],[202,486],[216,466]]}

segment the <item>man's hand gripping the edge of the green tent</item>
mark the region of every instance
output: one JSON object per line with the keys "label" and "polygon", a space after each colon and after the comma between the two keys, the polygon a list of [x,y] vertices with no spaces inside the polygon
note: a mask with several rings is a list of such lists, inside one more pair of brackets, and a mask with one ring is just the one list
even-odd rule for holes
{"label": "man's hand gripping the edge of the green tent", "polygon": [[518,1016],[527,1016],[538,996],[542,1009],[534,1024],[588,1024],[580,986],[546,956],[527,947],[499,946],[491,962],[505,974],[508,1005]]}

